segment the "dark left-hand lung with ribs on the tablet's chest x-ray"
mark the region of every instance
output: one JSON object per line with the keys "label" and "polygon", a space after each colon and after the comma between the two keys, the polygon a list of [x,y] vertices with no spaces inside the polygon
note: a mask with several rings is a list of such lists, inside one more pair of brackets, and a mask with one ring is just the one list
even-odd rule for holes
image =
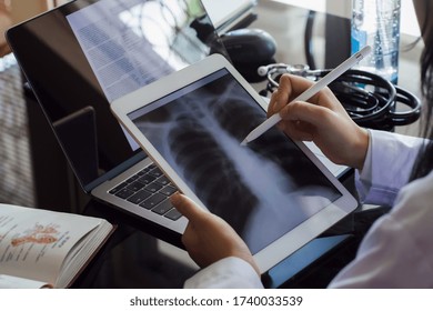
{"label": "dark left-hand lung with ribs on the tablet's chest x-ray", "polygon": [[[231,225],[242,231],[245,215],[250,214],[256,198],[244,183],[239,182],[241,177],[234,163],[200,122],[209,116],[204,116],[200,103],[194,101],[189,104],[193,109],[177,117],[177,127],[169,133],[174,161],[182,168],[184,179],[193,185],[197,195],[209,202],[212,212],[230,219]],[[191,118],[192,110],[194,118]],[[235,207],[231,207],[232,198],[239,199]]]}

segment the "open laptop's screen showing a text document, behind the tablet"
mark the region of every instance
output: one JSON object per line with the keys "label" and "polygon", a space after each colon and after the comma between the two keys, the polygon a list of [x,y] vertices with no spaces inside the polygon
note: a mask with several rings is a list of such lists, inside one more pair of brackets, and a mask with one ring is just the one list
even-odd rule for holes
{"label": "open laptop's screen showing a text document, behind the tablet", "polygon": [[77,0],[7,33],[84,190],[145,158],[110,102],[212,52],[199,0]]}

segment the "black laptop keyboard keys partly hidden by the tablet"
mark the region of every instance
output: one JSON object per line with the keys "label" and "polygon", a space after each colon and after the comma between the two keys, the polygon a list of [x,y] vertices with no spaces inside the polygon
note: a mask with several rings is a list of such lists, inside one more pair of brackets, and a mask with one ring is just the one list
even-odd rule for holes
{"label": "black laptop keyboard keys partly hidden by the tablet", "polygon": [[174,221],[182,217],[170,203],[170,197],[177,191],[163,172],[155,164],[150,164],[109,193]]}

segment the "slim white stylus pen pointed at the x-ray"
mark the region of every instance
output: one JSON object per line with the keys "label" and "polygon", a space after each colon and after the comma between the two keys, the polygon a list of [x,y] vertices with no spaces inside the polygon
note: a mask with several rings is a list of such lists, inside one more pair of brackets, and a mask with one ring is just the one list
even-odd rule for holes
{"label": "slim white stylus pen pointed at the x-ray", "polygon": [[[334,81],[341,74],[343,74],[350,68],[352,68],[354,64],[356,64],[359,61],[361,61],[370,52],[371,52],[371,47],[370,46],[364,47],[362,50],[360,50],[359,52],[354,53],[349,59],[343,61],[335,69],[333,69],[330,73],[328,73],[325,77],[320,79],[316,83],[311,86],[309,89],[306,89],[302,94],[296,97],[291,102],[306,101],[306,100],[311,99],[315,93],[318,93],[320,90],[324,89],[328,84],[330,84],[332,81]],[[259,127],[256,127],[254,130],[252,130],[246,136],[246,138],[241,142],[241,146],[245,146],[246,143],[253,141],[254,139],[261,137],[264,132],[266,132],[270,128],[275,126],[279,121],[281,121],[280,113],[275,113],[275,114],[271,116],[263,123],[261,123]]]}

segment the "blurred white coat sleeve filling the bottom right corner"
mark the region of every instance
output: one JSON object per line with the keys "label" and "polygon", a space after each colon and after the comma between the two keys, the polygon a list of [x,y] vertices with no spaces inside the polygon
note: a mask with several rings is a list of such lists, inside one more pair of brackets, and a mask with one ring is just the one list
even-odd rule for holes
{"label": "blurred white coat sleeve filling the bottom right corner", "polygon": [[433,172],[402,189],[330,288],[433,288]]}

